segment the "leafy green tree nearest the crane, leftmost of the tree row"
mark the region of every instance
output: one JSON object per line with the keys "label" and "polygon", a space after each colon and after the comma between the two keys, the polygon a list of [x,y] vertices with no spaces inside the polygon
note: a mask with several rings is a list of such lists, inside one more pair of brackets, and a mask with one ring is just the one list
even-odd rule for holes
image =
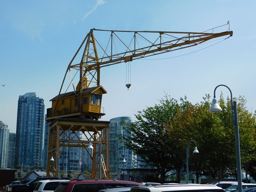
{"label": "leafy green tree nearest the crane, leftmost of the tree row", "polygon": [[[139,111],[133,124],[123,122],[124,128],[132,135],[124,138],[126,147],[141,156],[147,165],[156,168],[162,182],[165,182],[166,173],[170,170],[176,170],[178,182],[185,174],[185,136],[190,118],[183,115],[193,106],[186,101],[186,97],[181,102],[178,104],[177,100],[166,95],[154,107]],[[180,124],[181,118],[187,126]]]}

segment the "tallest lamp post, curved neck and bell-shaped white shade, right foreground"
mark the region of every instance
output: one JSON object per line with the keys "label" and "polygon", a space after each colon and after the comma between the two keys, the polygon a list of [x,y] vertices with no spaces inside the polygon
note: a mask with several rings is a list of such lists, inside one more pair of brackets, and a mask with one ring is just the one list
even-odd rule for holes
{"label": "tallest lamp post, curved neck and bell-shaped white shade, right foreground", "polygon": [[232,92],[230,88],[226,85],[218,85],[214,89],[214,96],[212,99],[212,105],[209,108],[209,112],[221,112],[222,108],[220,108],[217,103],[217,99],[215,96],[215,91],[219,86],[224,86],[228,88],[231,94],[230,102],[231,102],[231,113],[232,113],[232,123],[235,127],[235,142],[236,142],[236,169],[237,169],[237,182],[238,182],[238,192],[242,192],[242,174],[241,174],[241,159],[240,159],[240,140],[239,140],[239,128],[238,128],[238,120],[237,120],[237,109],[236,109],[236,101],[232,102]]}

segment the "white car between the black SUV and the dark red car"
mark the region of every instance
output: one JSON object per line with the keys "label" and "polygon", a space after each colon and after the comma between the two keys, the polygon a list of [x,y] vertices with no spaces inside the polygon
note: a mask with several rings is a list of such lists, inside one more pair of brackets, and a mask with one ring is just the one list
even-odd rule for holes
{"label": "white car between the black SUV and the dark red car", "polygon": [[33,192],[53,192],[61,181],[69,180],[42,180],[38,181],[38,184]]}

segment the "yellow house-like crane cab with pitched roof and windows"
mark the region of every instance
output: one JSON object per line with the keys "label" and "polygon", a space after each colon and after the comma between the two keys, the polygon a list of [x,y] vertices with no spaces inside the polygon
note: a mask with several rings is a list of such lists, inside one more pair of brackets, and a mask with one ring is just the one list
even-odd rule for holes
{"label": "yellow house-like crane cab with pitched roof and windows", "polygon": [[47,109],[46,120],[56,118],[89,118],[98,120],[105,115],[101,112],[102,94],[106,94],[102,86],[84,88],[82,93],[76,91],[59,94],[52,98],[52,108]]}

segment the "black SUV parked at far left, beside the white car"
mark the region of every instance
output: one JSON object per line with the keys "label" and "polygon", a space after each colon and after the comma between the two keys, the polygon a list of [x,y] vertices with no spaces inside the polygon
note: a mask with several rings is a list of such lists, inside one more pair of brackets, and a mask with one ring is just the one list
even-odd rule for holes
{"label": "black SUV parked at far left, beside the white car", "polygon": [[14,184],[8,186],[8,192],[33,192],[34,188],[38,184],[38,181],[48,179],[71,179],[69,177],[37,177],[30,180],[24,180],[20,184]]}

